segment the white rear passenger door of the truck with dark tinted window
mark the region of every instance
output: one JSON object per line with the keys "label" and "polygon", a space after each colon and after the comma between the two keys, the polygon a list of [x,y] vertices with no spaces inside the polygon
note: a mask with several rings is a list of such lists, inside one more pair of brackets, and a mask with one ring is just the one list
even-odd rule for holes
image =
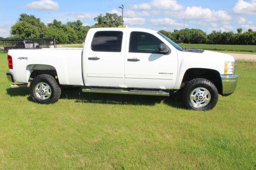
{"label": "white rear passenger door of the truck with dark tinted window", "polygon": [[85,57],[87,86],[124,86],[123,37],[126,37],[126,29],[92,30]]}

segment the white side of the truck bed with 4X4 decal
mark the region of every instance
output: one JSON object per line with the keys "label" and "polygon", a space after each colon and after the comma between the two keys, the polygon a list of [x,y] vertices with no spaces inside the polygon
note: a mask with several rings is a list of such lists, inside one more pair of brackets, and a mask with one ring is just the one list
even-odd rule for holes
{"label": "white side of the truck bed with 4X4 decal", "polygon": [[[82,49],[16,49],[12,56],[16,82],[27,83],[34,70],[56,70],[62,85],[83,86]],[[26,76],[24,76],[26,74]]]}

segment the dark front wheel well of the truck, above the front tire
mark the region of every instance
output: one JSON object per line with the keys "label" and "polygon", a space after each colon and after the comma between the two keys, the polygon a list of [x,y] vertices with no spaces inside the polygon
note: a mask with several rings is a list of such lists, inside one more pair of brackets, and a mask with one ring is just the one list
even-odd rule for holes
{"label": "dark front wheel well of the truck, above the front tire", "polygon": [[222,81],[220,73],[217,70],[207,68],[190,68],[186,70],[180,88],[183,88],[187,82],[195,78],[205,78],[210,80],[218,89],[218,93],[222,94]]}

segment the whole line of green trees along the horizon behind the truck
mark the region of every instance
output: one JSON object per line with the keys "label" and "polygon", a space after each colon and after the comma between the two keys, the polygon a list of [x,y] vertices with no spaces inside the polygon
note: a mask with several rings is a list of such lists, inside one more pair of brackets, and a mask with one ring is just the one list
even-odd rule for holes
{"label": "whole line of green trees along the horizon behind the truck", "polygon": [[[62,23],[53,20],[45,25],[40,18],[33,15],[20,14],[18,21],[11,27],[11,36],[8,39],[41,39],[55,38],[58,44],[82,43],[90,28],[95,27],[118,27],[122,25],[122,17],[117,14],[100,14],[94,18],[96,23],[92,26],[83,25],[80,20]],[[242,32],[242,28],[237,29],[237,33],[212,31],[210,34],[201,29],[174,29],[174,31],[160,30],[172,40],[181,40],[191,44],[236,44],[236,45],[256,45],[256,31],[248,29]],[[1,38],[1,37],[0,37]]]}

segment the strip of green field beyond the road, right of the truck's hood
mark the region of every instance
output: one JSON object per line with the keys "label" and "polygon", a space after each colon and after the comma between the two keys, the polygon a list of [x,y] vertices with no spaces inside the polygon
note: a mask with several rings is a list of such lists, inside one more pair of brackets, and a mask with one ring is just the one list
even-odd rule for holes
{"label": "strip of green field beyond the road, right of the truck's hood", "polygon": [[256,45],[212,45],[212,44],[178,44],[187,49],[214,50],[227,53],[256,54]]}

